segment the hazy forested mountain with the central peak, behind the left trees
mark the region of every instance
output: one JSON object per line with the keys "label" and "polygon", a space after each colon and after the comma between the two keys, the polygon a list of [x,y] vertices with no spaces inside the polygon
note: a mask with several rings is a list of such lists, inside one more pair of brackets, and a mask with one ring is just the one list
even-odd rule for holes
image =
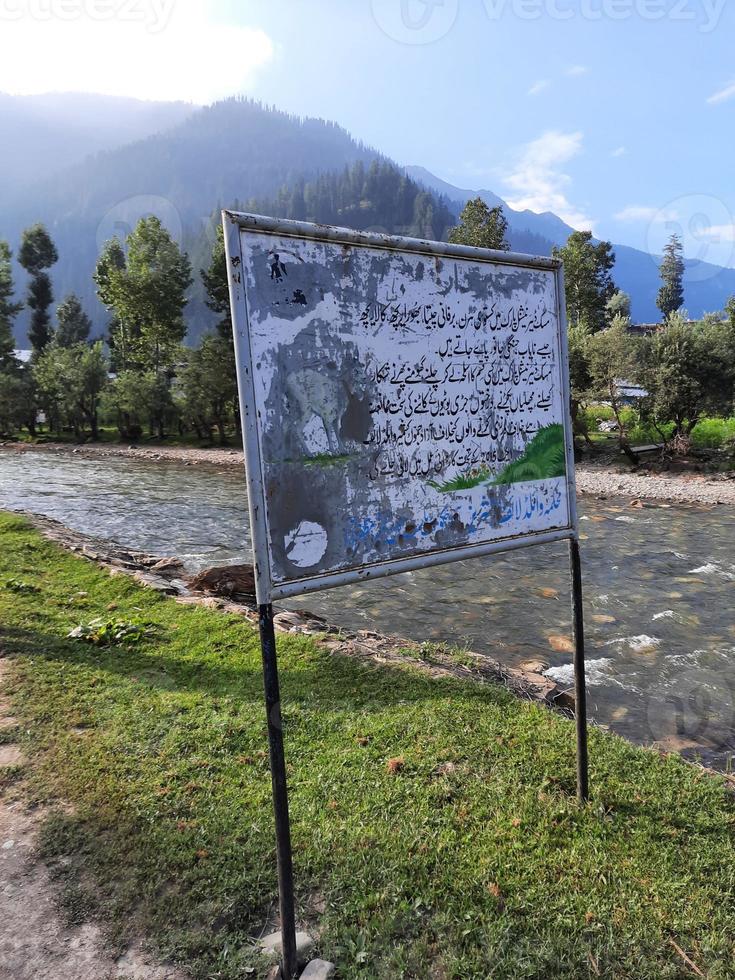
{"label": "hazy forested mountain with the central peak, behind the left trees", "polygon": [[[213,211],[379,156],[334,123],[228,99],[37,181],[2,206],[0,235],[16,250],[23,228],[43,221],[59,252],[51,270],[57,301],[76,292],[102,329],[106,315],[92,281],[99,250],[114,235],[124,237],[140,217],[158,215],[187,251],[206,257]],[[25,277],[17,273],[22,289]],[[194,324],[194,336],[211,320],[201,305],[196,312],[206,322]],[[26,324],[24,311],[18,319],[21,345]]]}

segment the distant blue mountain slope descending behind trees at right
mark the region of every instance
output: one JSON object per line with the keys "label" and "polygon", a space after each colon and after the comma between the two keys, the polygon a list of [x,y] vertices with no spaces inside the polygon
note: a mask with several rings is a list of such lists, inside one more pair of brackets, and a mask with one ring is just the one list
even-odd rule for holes
{"label": "distant blue mountain slope descending behind trees at right", "polygon": [[[459,212],[473,197],[481,197],[490,207],[500,205],[508,219],[511,246],[517,251],[550,255],[554,245],[563,245],[574,230],[551,212],[514,211],[492,191],[465,190],[441,180],[423,167],[406,167],[406,173],[424,187],[441,194]],[[524,236],[532,234],[537,248],[524,248]],[[613,277],[618,287],[632,301],[633,319],[639,323],[656,323],[661,314],[656,306],[661,257],[650,255],[629,245],[615,245]],[[726,269],[707,262],[687,260],[684,273],[685,305],[695,319],[705,313],[724,309],[735,295],[735,269]]]}

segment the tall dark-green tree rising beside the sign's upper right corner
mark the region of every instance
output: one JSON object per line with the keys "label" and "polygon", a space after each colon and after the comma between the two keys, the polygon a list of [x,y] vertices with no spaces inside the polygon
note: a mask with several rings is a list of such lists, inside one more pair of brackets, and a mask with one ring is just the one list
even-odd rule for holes
{"label": "tall dark-green tree rising beside the sign's upper right corner", "polygon": [[616,292],[610,274],[615,265],[610,242],[595,245],[591,231],[575,231],[566,245],[555,247],[552,254],[564,263],[570,326],[584,327],[590,333],[604,330],[610,322],[607,304]]}

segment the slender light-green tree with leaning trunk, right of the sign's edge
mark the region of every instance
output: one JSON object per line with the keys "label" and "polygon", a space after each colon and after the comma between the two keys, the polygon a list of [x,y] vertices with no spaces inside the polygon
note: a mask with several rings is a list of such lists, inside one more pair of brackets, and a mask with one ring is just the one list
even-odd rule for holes
{"label": "slender light-green tree with leaning trunk, right of the sign's edge", "polygon": [[592,390],[597,398],[610,404],[618,426],[618,442],[621,450],[633,463],[638,457],[628,439],[624,404],[620,397],[620,382],[635,380],[637,351],[636,341],[628,332],[630,321],[616,316],[607,330],[589,338],[589,372]]}

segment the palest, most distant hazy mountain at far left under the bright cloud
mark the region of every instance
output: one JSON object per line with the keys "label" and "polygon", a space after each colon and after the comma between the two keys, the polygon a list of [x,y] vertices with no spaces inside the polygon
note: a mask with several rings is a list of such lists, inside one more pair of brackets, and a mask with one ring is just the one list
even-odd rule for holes
{"label": "palest, most distant hazy mountain at far left under the bright cloud", "polygon": [[194,111],[185,102],[0,92],[0,204],[90,154],[168,129]]}

